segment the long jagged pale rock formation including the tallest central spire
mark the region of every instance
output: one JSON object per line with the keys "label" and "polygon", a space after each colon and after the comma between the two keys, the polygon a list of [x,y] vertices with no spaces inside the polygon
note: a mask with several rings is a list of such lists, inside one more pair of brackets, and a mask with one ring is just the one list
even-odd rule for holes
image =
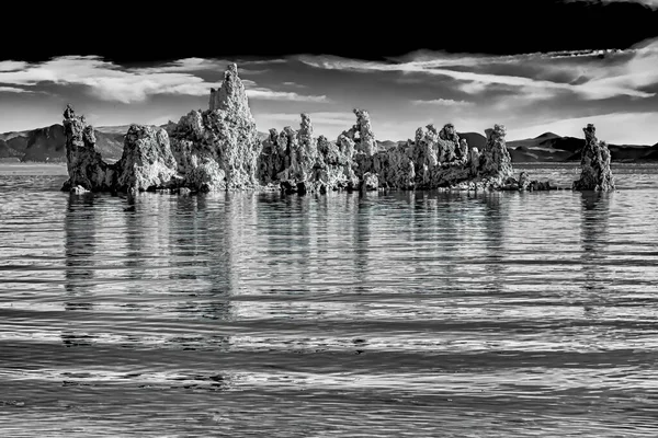
{"label": "long jagged pale rock formation including the tallest central spire", "polygon": [[[236,65],[222,87],[211,89],[208,110],[191,111],[162,128],[132,125],[121,159],[104,162],[83,117],[65,111],[69,181],[66,189],[211,192],[283,189],[287,193],[378,188],[532,189],[512,177],[506,129],[487,130],[481,152],[468,148],[453,124],[420,127],[413,140],[379,150],[370,114],[353,111],[355,124],[336,141],[314,137],[308,114],[297,130],[270,129],[262,141]],[[589,157],[589,155],[588,155]]]}

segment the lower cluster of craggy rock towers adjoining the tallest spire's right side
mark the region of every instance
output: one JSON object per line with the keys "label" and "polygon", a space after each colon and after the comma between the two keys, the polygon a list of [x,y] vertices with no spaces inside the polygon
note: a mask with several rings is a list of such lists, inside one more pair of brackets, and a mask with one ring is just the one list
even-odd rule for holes
{"label": "lower cluster of craggy rock towers adjoining the tallest spire's right side", "polygon": [[271,129],[260,157],[262,184],[279,184],[286,192],[485,189],[502,187],[512,174],[502,126],[490,129],[481,157],[476,148],[468,150],[452,124],[441,130],[433,125],[418,128],[415,140],[376,150],[367,112],[354,110],[354,115],[356,124],[336,142],[322,136],[314,141],[310,117],[306,114],[302,115],[298,131],[291,127],[281,134]]}

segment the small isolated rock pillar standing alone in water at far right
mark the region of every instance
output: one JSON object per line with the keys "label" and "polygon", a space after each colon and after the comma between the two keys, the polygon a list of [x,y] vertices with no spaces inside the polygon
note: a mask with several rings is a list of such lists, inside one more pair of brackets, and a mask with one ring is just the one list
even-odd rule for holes
{"label": "small isolated rock pillar standing alone in water at far right", "polygon": [[574,182],[576,191],[614,191],[614,177],[610,170],[610,150],[604,141],[597,139],[597,128],[589,124],[582,128],[585,147],[580,159],[580,178]]}

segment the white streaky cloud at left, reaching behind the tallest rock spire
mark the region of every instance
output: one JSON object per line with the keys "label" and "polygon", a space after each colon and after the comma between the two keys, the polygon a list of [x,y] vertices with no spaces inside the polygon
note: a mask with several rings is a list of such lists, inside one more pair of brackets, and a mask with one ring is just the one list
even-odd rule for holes
{"label": "white streaky cloud at left, reaching behind the tallest rock spire", "polygon": [[[219,88],[222,82],[208,82],[190,71],[222,71],[227,64],[217,59],[186,58],[162,66],[127,68],[98,56],[64,56],[41,64],[4,61],[0,85],[8,89],[15,85],[36,88],[43,83],[83,85],[101,100],[129,104],[158,94],[207,95],[211,88]],[[247,95],[253,99],[329,102],[324,95],[275,91],[246,79],[242,83]]]}

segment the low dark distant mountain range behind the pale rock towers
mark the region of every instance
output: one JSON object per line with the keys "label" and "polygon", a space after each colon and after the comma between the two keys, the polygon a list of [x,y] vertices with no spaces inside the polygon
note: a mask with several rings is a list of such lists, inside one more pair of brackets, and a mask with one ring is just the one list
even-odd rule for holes
{"label": "low dark distant mountain range behind the pale rock towers", "polygon": [[[166,125],[164,125],[166,126]],[[164,127],[162,126],[162,127]],[[97,148],[104,159],[118,160],[123,153],[124,135],[128,126],[103,126],[95,130]],[[260,132],[260,138],[269,136]],[[470,147],[483,149],[487,142],[478,132],[460,132]],[[0,134],[0,161],[66,162],[66,136],[61,125]],[[406,141],[377,140],[381,149]],[[566,162],[580,160],[585,139],[544,132],[538,137],[507,142],[512,162]],[[613,161],[658,161],[658,143],[608,145]]]}

